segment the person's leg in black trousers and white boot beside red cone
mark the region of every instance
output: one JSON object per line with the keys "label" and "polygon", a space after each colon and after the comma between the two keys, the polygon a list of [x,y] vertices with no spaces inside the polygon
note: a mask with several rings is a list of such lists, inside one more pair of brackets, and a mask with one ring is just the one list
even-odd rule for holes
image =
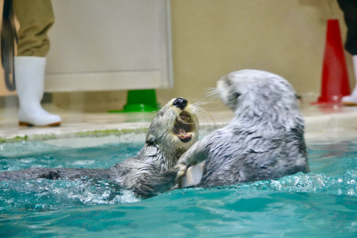
{"label": "person's leg in black trousers and white boot beside red cone", "polygon": [[347,26],[345,49],[352,55],[356,86],[351,95],[342,97],[342,103],[357,105],[357,1],[338,0]]}

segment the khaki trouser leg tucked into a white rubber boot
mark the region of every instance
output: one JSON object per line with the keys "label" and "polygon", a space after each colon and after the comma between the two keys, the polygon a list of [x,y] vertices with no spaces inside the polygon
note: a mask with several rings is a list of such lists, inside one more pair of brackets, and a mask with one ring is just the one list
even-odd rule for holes
{"label": "khaki trouser leg tucked into a white rubber boot", "polygon": [[13,0],[13,3],[20,23],[17,56],[46,56],[50,50],[47,31],[55,21],[51,0]]}

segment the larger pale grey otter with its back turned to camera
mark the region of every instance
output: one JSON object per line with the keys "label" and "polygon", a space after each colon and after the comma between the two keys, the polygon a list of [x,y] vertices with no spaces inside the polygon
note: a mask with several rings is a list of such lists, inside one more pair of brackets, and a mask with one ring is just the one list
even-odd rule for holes
{"label": "larger pale grey otter with its back turned to camera", "polygon": [[[177,162],[181,187],[213,187],[309,172],[296,93],[283,77],[240,70],[216,92],[235,117],[193,145]],[[187,171],[186,171],[186,168]]]}

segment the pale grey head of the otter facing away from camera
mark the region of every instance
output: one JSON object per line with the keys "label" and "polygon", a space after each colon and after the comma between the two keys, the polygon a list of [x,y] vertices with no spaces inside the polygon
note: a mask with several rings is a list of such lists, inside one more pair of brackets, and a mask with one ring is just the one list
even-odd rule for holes
{"label": "pale grey head of the otter facing away from camera", "polygon": [[287,126],[300,116],[293,87],[283,77],[270,72],[231,72],[218,80],[217,91],[238,117],[262,122],[281,119]]}

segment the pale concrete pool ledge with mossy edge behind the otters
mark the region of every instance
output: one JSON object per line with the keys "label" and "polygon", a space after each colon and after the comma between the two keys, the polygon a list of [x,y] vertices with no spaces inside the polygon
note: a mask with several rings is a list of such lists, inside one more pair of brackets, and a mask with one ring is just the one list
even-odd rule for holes
{"label": "pale concrete pool ledge with mossy edge behind the otters", "polygon": [[[14,109],[15,113],[17,109]],[[52,110],[53,112],[53,110]],[[58,112],[60,127],[19,127],[12,120],[0,118],[0,143],[54,140],[59,138],[103,137],[122,133],[146,133],[155,113],[80,113]],[[350,140],[357,138],[357,107],[308,107],[302,110],[307,141]],[[200,117],[201,135],[227,125],[231,111],[210,112]],[[10,117],[9,117],[10,118]],[[214,120],[214,122],[213,122]]]}

